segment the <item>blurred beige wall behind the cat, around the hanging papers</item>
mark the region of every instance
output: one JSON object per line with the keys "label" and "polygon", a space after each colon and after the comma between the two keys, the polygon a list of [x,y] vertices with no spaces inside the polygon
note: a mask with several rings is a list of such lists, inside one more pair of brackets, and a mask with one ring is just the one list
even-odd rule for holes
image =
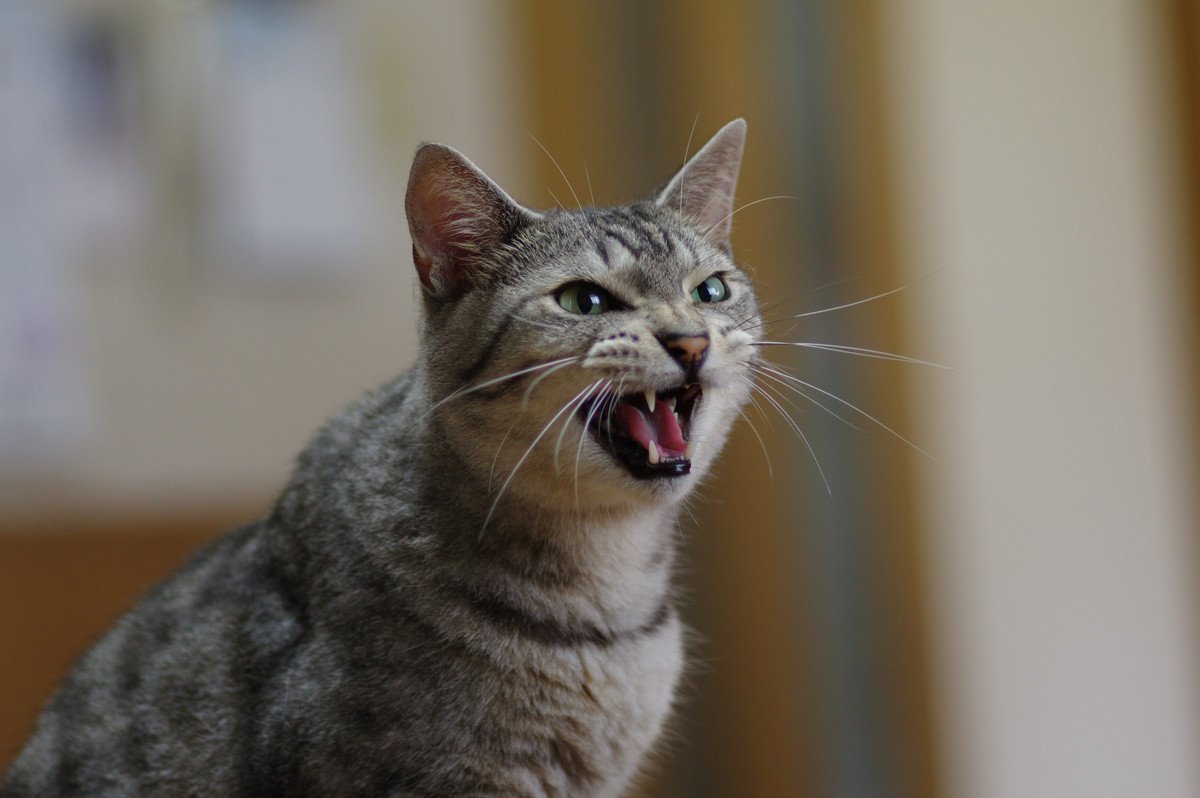
{"label": "blurred beige wall behind the cat, around the hanging papers", "polygon": [[139,12],[154,32],[143,50],[155,76],[144,114],[151,220],[125,248],[70,264],[86,433],[49,468],[0,475],[0,515],[263,505],[317,425],[415,356],[403,190],[416,145],[444,140],[517,196],[528,191],[517,30],[504,7],[331,6],[360,82],[350,108],[368,116],[372,246],[328,280],[256,281],[215,263],[192,247],[199,222],[181,218],[194,187],[172,182],[194,166],[179,163],[194,156],[181,116],[204,103],[205,54],[194,50],[204,7]]}

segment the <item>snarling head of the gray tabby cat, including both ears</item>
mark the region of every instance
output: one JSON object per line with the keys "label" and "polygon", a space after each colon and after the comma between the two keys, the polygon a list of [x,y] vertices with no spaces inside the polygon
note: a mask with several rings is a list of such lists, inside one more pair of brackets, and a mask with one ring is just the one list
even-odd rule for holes
{"label": "snarling head of the gray tabby cat, including both ears", "polygon": [[745,402],[758,308],[730,251],[745,122],[653,198],[535,211],[457,151],[406,209],[430,418],[460,466],[540,506],[682,498]]}

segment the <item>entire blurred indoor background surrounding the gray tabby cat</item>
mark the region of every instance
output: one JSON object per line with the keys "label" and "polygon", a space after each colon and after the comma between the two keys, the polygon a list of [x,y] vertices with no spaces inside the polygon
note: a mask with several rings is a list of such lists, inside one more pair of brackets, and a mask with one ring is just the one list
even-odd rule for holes
{"label": "entire blurred indoor background surrounding the gray tabby cat", "polygon": [[685,515],[640,794],[1200,794],[1193,0],[4,0],[0,767],[413,361],[419,142],[602,204],[734,116],[768,337],[827,348]]}

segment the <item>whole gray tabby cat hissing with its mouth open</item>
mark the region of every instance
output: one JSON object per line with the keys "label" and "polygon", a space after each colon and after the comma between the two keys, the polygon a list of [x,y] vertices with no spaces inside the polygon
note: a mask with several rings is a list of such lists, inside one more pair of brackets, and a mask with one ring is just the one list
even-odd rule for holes
{"label": "whole gray tabby cat hissing with its mouth open", "polygon": [[424,145],[418,365],[83,656],[4,794],[619,794],[683,664],[679,503],[756,358],[744,137],[574,211]]}

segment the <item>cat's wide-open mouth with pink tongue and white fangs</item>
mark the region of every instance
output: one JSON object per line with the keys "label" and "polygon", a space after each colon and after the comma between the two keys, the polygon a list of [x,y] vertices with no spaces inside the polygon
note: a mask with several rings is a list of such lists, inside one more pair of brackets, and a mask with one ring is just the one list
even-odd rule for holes
{"label": "cat's wide-open mouth with pink tongue and white fangs", "polygon": [[697,383],[586,402],[580,418],[602,449],[634,476],[683,476],[691,472],[688,440],[703,391]]}

